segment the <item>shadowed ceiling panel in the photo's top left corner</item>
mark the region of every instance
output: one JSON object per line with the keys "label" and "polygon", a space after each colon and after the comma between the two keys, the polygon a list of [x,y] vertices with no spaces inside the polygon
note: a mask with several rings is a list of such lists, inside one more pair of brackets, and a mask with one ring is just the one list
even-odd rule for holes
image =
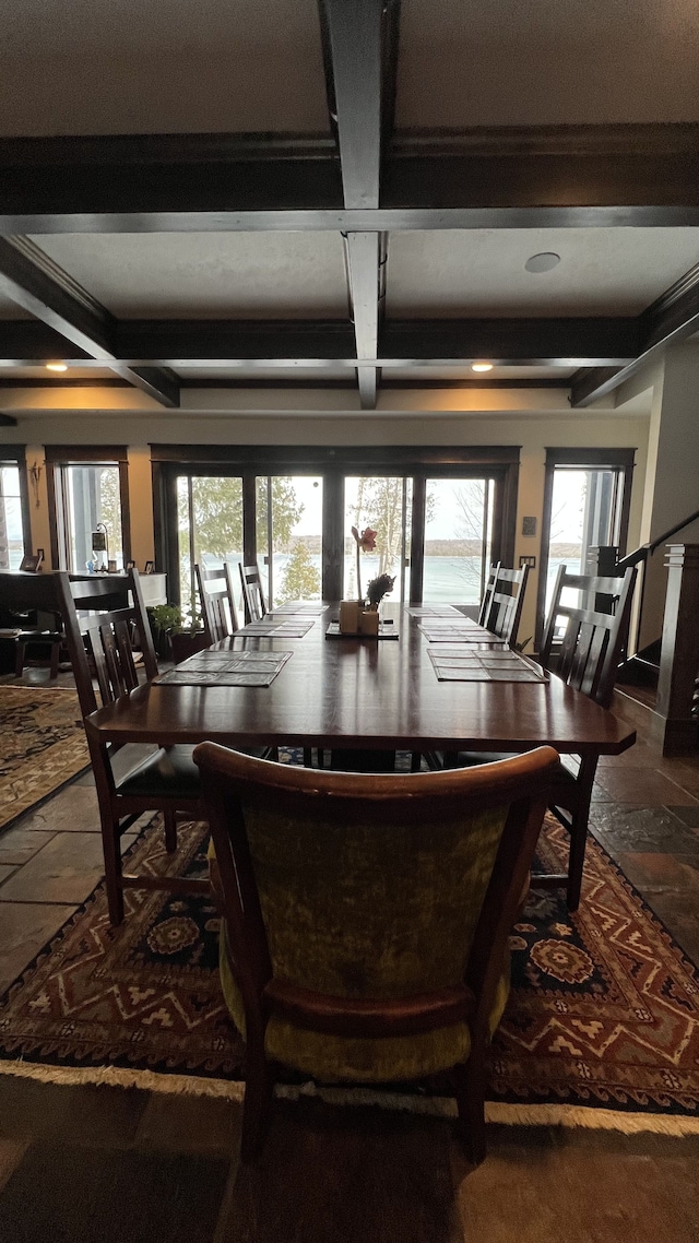
{"label": "shadowed ceiling panel in the photo's top left corner", "polygon": [[0,0],[0,134],[326,131],[315,0]]}

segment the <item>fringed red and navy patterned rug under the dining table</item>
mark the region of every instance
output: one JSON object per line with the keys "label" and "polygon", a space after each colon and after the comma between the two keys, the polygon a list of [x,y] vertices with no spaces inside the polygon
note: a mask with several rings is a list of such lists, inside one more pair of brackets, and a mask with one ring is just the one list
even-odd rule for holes
{"label": "fringed red and navy patterned rug under the dining table", "polygon": [[[173,861],[154,822],[132,848],[137,869],[205,869],[204,827],[184,824],[179,839]],[[550,815],[539,850],[546,870],[565,865],[566,834]],[[216,909],[143,890],[126,902],[112,929],[98,888],[10,987],[0,1071],[240,1099],[244,1047],[219,988]],[[698,972],[593,839],[580,911],[532,892],[511,948],[489,1120],[699,1134]],[[454,1111],[448,1076],[386,1093],[281,1078],[280,1095]]]}

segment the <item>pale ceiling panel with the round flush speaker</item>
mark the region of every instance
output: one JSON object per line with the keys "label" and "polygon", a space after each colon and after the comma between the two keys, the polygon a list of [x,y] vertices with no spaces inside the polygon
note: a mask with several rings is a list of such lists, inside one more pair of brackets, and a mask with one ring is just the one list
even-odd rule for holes
{"label": "pale ceiling panel with the round flush speaker", "polygon": [[[527,272],[531,255],[561,262]],[[699,229],[512,229],[392,234],[392,318],[638,314],[699,262]]]}

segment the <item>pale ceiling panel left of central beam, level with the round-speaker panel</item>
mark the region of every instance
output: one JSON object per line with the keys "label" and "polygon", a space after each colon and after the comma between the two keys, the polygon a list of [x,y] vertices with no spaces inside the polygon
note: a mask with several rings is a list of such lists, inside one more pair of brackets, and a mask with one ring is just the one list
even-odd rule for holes
{"label": "pale ceiling panel left of central beam, level with the round-speaker panel", "polygon": [[119,318],[347,316],[335,232],[63,234],[32,239]]}

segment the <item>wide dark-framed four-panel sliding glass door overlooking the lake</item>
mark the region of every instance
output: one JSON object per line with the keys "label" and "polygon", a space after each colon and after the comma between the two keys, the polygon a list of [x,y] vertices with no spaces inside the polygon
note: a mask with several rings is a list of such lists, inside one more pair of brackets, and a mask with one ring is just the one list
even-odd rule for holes
{"label": "wide dark-framed four-panel sliding glass door overlooking the lake", "polygon": [[476,604],[491,559],[514,563],[519,449],[153,445],[155,554],[193,605],[195,561],[257,561],[274,604],[357,594],[351,527],[377,531],[362,589]]}

